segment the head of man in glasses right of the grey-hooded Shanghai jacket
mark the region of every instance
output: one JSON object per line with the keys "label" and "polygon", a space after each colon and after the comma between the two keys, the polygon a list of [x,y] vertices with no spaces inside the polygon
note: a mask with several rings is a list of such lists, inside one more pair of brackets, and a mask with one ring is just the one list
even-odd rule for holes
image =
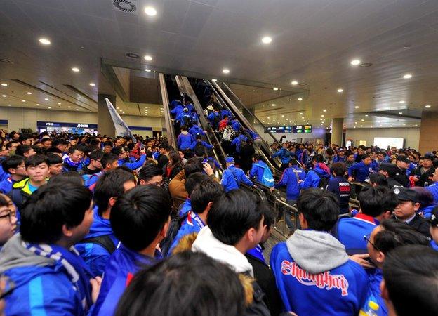
{"label": "head of man in glasses right of the grey-hooded Shanghai jacket", "polygon": [[429,240],[411,226],[399,220],[387,219],[380,222],[366,238],[366,248],[371,261],[382,268],[385,257],[393,249],[406,244],[429,244]]}

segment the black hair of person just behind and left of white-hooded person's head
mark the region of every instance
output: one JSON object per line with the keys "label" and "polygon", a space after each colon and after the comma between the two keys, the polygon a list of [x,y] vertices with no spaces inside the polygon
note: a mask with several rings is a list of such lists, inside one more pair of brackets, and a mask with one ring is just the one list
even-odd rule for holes
{"label": "black hair of person just behind and left of white-hooded person's head", "polygon": [[[192,173],[192,178],[196,173]],[[188,181],[188,180],[187,180]],[[208,178],[198,182],[194,190],[190,194],[190,202],[192,204],[192,211],[201,214],[204,213],[209,202],[214,202],[215,199],[223,194],[222,185],[217,181]]]}

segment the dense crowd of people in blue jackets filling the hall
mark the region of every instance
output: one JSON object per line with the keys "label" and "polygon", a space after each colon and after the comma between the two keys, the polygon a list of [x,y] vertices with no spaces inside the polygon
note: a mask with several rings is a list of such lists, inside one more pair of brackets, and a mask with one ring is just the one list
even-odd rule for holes
{"label": "dense crowd of people in blue jackets filling the hall", "polygon": [[[211,132],[233,129],[211,113]],[[280,140],[274,181],[255,152],[244,166],[234,147],[220,166],[194,126],[178,126],[176,148],[166,138],[2,131],[0,310],[437,315],[436,152]],[[230,144],[247,138],[241,151],[257,139],[233,135]],[[270,254],[278,214],[253,186],[286,187],[298,209]]]}

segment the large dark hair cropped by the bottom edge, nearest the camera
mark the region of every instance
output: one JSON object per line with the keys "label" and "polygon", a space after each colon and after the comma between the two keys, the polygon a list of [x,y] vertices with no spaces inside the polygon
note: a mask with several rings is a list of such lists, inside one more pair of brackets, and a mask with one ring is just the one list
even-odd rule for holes
{"label": "large dark hair cropped by the bottom edge, nearest the camera", "polygon": [[114,315],[239,316],[244,302],[244,288],[230,267],[206,254],[184,251],[138,272]]}

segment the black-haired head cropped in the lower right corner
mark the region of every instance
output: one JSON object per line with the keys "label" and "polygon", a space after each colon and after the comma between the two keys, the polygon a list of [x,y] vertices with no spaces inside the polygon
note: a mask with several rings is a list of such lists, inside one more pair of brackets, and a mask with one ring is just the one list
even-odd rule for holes
{"label": "black-haired head cropped in the lower right corner", "polygon": [[401,246],[383,264],[380,292],[389,315],[438,315],[438,252],[427,246]]}

